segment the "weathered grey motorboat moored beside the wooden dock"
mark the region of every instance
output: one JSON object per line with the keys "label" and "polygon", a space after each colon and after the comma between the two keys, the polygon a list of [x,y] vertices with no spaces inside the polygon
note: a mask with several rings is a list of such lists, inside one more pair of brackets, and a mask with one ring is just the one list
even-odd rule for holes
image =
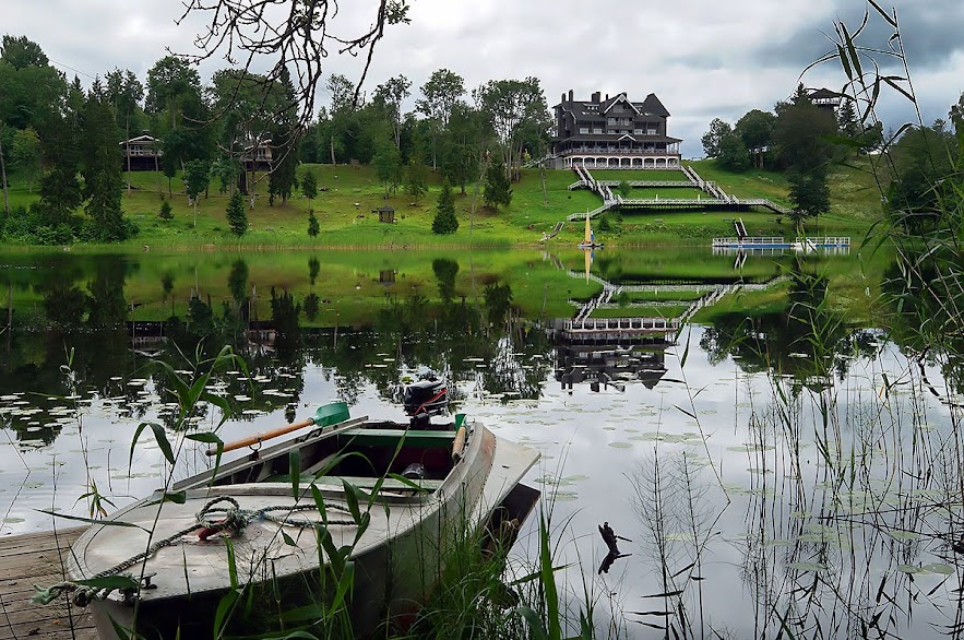
{"label": "weathered grey motorboat moored beside the wooden dock", "polygon": [[[317,605],[319,593],[333,592],[325,576],[347,559],[353,633],[368,637],[386,620],[412,618],[460,541],[511,545],[538,499],[521,479],[539,454],[463,415],[415,429],[350,418],[334,403],[318,418],[281,445],[252,437],[212,449],[260,447],[81,535],[70,557],[73,581],[121,571],[134,579],[135,586],[88,597],[102,638],[133,628],[147,638],[211,637],[218,607],[252,589],[267,590],[272,604],[283,593],[286,608],[312,597]],[[320,544],[325,535],[331,545]],[[167,544],[152,547],[157,541]],[[346,556],[333,558],[334,549]]]}

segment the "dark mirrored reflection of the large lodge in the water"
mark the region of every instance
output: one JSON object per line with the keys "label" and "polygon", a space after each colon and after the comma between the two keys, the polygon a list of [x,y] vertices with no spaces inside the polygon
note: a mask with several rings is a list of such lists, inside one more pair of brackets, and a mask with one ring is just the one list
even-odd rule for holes
{"label": "dark mirrored reflection of the large lodge in the water", "polygon": [[642,382],[654,388],[666,375],[665,351],[674,343],[665,335],[640,336],[634,346],[581,344],[556,340],[556,380],[563,389],[590,382],[593,391],[600,384],[621,390],[624,382]]}

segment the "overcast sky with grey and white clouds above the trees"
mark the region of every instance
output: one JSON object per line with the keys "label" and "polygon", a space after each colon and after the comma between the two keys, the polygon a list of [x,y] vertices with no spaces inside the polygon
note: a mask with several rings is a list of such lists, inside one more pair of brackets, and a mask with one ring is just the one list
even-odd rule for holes
{"label": "overcast sky with grey and white clouds above the trees", "polygon": [[[880,0],[890,8],[892,4]],[[357,32],[376,0],[342,0],[335,26]],[[826,52],[824,33],[835,20],[856,27],[862,0],[410,0],[412,24],[391,27],[376,49],[367,88],[404,74],[417,88],[447,68],[471,90],[487,80],[535,75],[551,107],[560,94],[593,91],[631,99],[655,93],[669,112],[669,133],[683,139],[683,155],[702,155],[700,137],[710,120],[735,122],[752,108],[770,110],[790,95],[804,68]],[[914,88],[924,119],[947,118],[964,91],[964,2],[896,0]],[[25,35],[84,83],[115,67],[143,81],[166,48],[191,52],[199,16],[181,25],[180,0],[3,0],[0,31]],[[879,19],[873,44],[889,32]],[[882,37],[881,37],[882,36]],[[227,66],[214,60],[211,72]],[[332,55],[326,72],[357,79],[357,58]],[[808,86],[840,88],[836,63],[805,76]],[[2,91],[2,87],[0,87]],[[413,96],[412,100],[414,100]],[[321,99],[326,96],[321,94]],[[321,105],[317,105],[321,106]],[[412,104],[409,104],[409,108]],[[905,100],[885,97],[885,122],[913,117]]]}

